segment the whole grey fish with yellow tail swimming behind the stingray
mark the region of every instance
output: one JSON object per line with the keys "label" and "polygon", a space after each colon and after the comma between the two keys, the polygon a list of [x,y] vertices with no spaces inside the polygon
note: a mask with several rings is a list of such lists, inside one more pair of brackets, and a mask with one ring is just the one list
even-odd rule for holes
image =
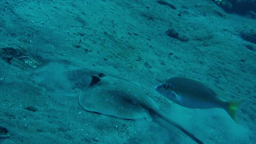
{"label": "whole grey fish with yellow tail swimming behind the stingray", "polygon": [[224,101],[218,98],[217,92],[205,83],[187,77],[172,77],[155,87],[161,95],[174,103],[191,109],[220,108],[228,112],[237,123],[237,109],[246,100]]}

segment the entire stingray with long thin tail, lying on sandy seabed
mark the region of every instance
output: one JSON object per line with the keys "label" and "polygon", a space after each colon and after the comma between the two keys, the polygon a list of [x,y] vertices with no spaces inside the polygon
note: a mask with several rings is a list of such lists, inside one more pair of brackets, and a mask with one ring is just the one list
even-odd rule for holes
{"label": "entire stingray with long thin tail, lying on sandy seabed", "polygon": [[138,83],[127,82],[100,73],[92,75],[92,80],[79,95],[79,104],[84,110],[123,119],[147,119],[159,125],[159,118],[181,130],[197,143],[203,143],[194,134],[172,121],[160,111],[155,101],[150,99]]}

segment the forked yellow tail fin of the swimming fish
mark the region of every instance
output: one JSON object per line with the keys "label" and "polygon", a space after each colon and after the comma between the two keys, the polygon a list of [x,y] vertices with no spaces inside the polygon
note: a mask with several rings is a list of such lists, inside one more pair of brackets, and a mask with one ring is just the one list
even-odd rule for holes
{"label": "forked yellow tail fin of the swimming fish", "polygon": [[232,119],[234,119],[235,122],[239,123],[238,120],[237,120],[237,114],[236,114],[236,111],[237,109],[239,109],[243,103],[245,102],[246,100],[239,100],[239,101],[229,101],[227,104],[226,104],[226,112],[229,113],[230,117]]}

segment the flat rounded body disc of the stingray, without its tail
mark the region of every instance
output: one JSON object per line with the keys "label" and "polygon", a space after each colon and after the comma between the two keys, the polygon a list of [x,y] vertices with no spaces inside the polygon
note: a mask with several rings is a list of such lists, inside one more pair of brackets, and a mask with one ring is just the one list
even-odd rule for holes
{"label": "flat rounded body disc of the stingray, without its tail", "polygon": [[[152,119],[141,100],[147,98],[140,85],[110,76],[103,76],[94,85],[88,85],[79,95],[79,104],[86,111],[124,119]],[[147,99],[148,100],[148,99]]]}

